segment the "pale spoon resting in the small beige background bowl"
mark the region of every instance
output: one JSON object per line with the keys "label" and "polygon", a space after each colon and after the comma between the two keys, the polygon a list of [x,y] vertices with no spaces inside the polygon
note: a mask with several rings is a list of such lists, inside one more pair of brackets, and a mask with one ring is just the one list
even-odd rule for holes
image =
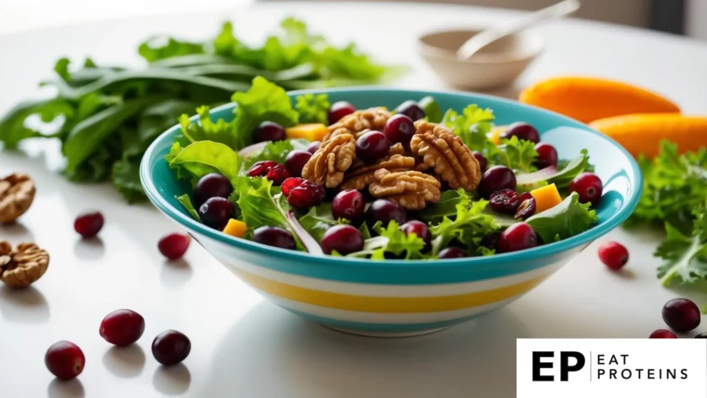
{"label": "pale spoon resting in the small beige background bowl", "polygon": [[508,35],[513,35],[513,33],[518,33],[521,30],[532,28],[535,25],[540,25],[552,21],[557,18],[562,18],[563,16],[568,16],[569,14],[578,10],[580,4],[579,0],[564,0],[552,6],[542,8],[541,10],[530,13],[529,15],[520,18],[518,21],[512,21],[506,25],[494,26],[483,30],[481,33],[472,36],[469,40],[464,42],[462,47],[457,50],[457,58],[459,59],[469,59],[472,55],[479,52],[487,45],[490,45],[496,40],[505,38]]}

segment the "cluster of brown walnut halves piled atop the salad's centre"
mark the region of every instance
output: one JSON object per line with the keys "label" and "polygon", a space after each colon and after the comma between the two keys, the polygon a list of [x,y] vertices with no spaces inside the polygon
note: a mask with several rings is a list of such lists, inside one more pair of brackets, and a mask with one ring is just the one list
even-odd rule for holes
{"label": "cluster of brown walnut halves piled atop the salad's centre", "polygon": [[457,135],[443,125],[417,120],[409,144],[397,142],[375,164],[356,159],[356,140],[371,130],[382,131],[390,119],[385,108],[357,110],[328,127],[302,177],[341,190],[368,191],[408,210],[440,200],[443,183],[474,191],[481,180],[479,161]]}

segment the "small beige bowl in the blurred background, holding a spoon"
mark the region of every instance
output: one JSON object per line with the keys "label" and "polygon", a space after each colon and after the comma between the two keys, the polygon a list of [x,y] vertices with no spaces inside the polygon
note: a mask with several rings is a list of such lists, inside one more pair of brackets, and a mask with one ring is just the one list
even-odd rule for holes
{"label": "small beige bowl in the blurred background, holding a spoon", "polygon": [[481,29],[437,30],[420,36],[420,55],[434,72],[452,86],[497,89],[512,83],[544,48],[542,37],[530,30],[498,40],[469,59],[456,51]]}

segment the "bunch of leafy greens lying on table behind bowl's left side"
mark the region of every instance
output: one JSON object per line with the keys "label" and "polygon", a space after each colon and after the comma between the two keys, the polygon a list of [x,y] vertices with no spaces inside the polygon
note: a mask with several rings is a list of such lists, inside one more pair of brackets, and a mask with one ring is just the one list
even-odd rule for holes
{"label": "bunch of leafy greens lying on table behind bowl's left side", "polygon": [[[281,32],[261,47],[238,40],[231,23],[224,23],[209,42],[151,39],[138,51],[148,62],[146,69],[99,66],[86,59],[78,70],[70,71],[69,59],[59,59],[54,67],[56,78],[42,83],[54,87],[56,96],[20,103],[6,113],[0,118],[0,142],[11,149],[29,138],[58,138],[66,157],[67,178],[110,179],[132,203],[144,198],[138,168],[148,145],[197,106],[208,104],[199,108],[199,115],[202,123],[209,123],[209,107],[228,102],[234,91],[249,89],[255,76],[264,76],[284,89],[306,89],[372,84],[403,71],[375,64],[353,44],[335,47],[293,18],[285,19]],[[258,106],[257,101],[253,106]],[[328,103],[320,96],[305,96],[298,99],[296,108],[302,122],[322,122]],[[257,110],[244,113],[252,111]],[[296,122],[294,111],[281,116],[285,122]],[[250,118],[237,119],[240,128],[252,127]],[[60,127],[47,131],[49,127],[42,123],[52,121]],[[188,118],[182,117],[185,123]],[[205,127],[206,135],[192,135],[192,139],[211,137],[208,130],[218,130],[219,123]],[[185,130],[189,134],[196,133]],[[223,143],[235,147],[250,138],[239,140]]]}

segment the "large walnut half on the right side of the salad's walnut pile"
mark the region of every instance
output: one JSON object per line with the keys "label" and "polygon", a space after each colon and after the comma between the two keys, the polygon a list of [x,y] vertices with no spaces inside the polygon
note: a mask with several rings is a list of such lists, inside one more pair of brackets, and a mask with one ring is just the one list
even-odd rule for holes
{"label": "large walnut half on the right side of the salad's walnut pile", "polygon": [[416,133],[410,141],[413,154],[447,181],[450,188],[474,191],[481,181],[479,161],[452,130],[425,120],[415,122]]}

